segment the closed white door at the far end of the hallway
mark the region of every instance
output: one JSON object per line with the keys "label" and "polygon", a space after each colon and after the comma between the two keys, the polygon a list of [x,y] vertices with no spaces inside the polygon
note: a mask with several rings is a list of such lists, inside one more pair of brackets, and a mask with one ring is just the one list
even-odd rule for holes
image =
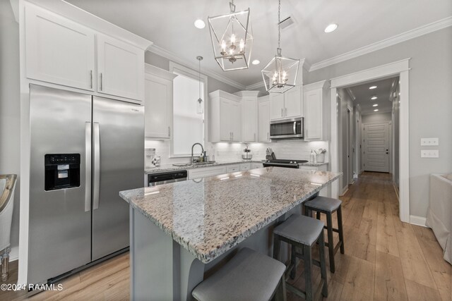
{"label": "closed white door at the far end of the hallway", "polygon": [[389,124],[364,124],[364,171],[389,172]]}

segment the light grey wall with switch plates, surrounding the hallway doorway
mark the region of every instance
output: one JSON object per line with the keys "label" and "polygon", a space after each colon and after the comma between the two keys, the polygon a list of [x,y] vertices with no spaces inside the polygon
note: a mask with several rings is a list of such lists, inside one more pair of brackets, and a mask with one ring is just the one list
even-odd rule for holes
{"label": "light grey wall with switch plates, surrounding the hallway doorway", "polygon": [[[429,174],[452,171],[452,27],[358,56],[304,75],[328,80],[410,59],[410,214],[427,216]],[[420,138],[439,137],[439,159],[420,158]]]}

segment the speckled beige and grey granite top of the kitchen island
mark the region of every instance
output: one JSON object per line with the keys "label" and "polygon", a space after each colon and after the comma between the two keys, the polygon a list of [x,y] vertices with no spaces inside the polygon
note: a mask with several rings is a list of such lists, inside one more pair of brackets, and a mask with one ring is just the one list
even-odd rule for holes
{"label": "speckled beige and grey granite top of the kitchen island", "polygon": [[268,167],[119,195],[208,263],[339,176],[329,171]]}

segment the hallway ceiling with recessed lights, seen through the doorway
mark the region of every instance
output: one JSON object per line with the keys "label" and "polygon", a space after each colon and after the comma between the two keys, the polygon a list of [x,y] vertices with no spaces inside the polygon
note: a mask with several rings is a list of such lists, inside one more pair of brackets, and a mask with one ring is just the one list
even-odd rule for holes
{"label": "hallway ceiling with recessed lights, seen through the doorway", "polygon": [[[359,105],[361,107],[362,115],[367,115],[371,113],[387,113],[392,111],[392,103],[389,101],[389,94],[391,94],[391,89],[393,85],[397,85],[398,77],[387,78],[384,80],[376,80],[373,82],[366,82],[364,84],[359,84],[346,89],[352,91],[355,100],[353,104]],[[376,86],[375,89],[370,90],[369,87]],[[376,96],[377,99],[371,100],[371,97]],[[378,106],[373,106],[378,104]],[[375,112],[374,109],[379,111]]]}

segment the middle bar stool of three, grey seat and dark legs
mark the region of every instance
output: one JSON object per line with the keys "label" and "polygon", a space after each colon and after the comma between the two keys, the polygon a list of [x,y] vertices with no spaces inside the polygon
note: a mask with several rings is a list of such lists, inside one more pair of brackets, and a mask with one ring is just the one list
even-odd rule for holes
{"label": "middle bar stool of three, grey seat and dark legs", "polygon": [[[319,293],[319,290],[321,290],[323,297],[328,297],[323,222],[311,219],[307,216],[292,214],[283,223],[273,229],[273,258],[275,259],[278,259],[279,257],[281,241],[287,242],[292,247],[290,264],[286,269],[286,271],[290,271],[290,278],[295,278],[297,257],[304,260],[304,281],[306,283],[306,291],[299,290],[290,283],[286,283],[287,290],[290,290],[299,297],[304,297],[306,300],[313,300],[313,297]],[[316,242],[319,243],[319,261],[312,259],[311,253],[311,248]],[[297,253],[297,247],[302,248],[302,254]],[[316,293],[313,293],[312,291],[312,264],[320,266],[321,271],[321,282]]]}

